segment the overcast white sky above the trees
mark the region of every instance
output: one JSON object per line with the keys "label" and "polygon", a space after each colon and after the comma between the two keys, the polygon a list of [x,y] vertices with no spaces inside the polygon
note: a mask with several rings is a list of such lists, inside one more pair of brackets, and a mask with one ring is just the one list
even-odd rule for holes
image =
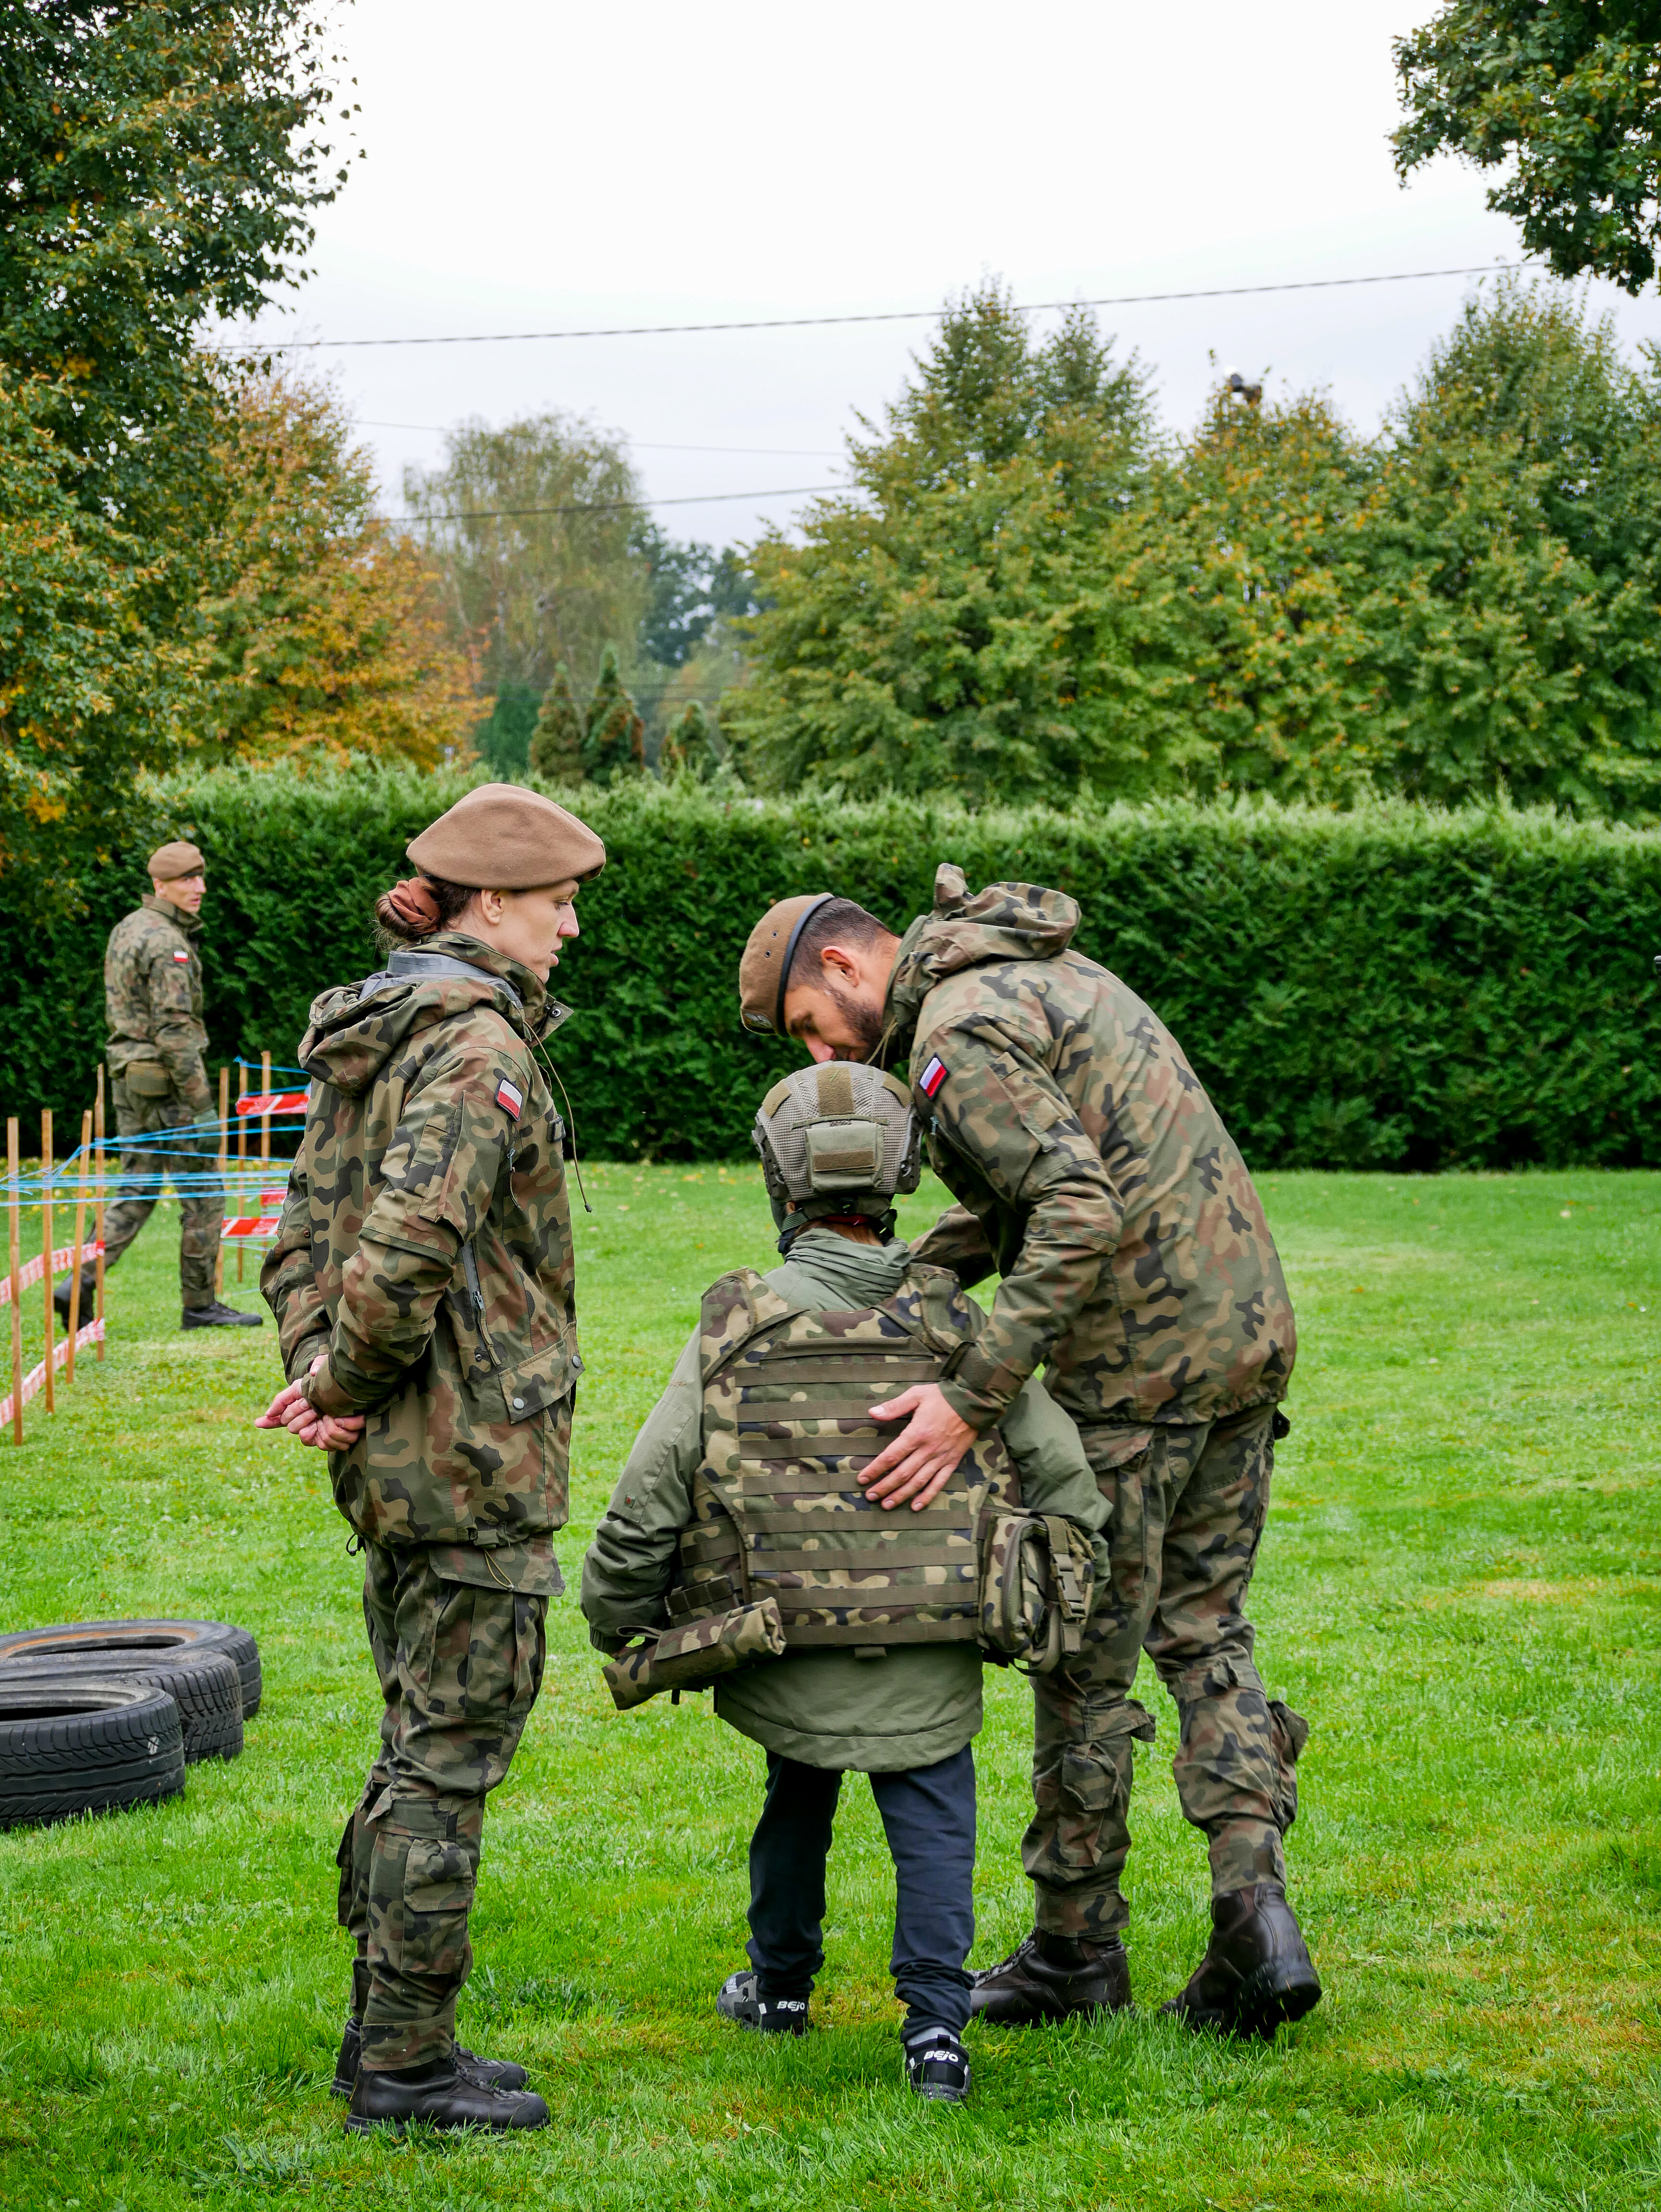
{"label": "overcast white sky above the trees", "polygon": [[[288,336],[931,307],[1455,268],[1517,254],[1455,164],[1396,184],[1391,38],[1433,0],[356,0],[352,181]],[[1104,310],[1190,425],[1208,354],[1371,427],[1458,279]],[[1597,285],[1628,338],[1654,294]],[[838,478],[927,323],[318,352],[380,456],[540,407],[624,431],[675,535],[728,542]],[[407,425],[407,427],[391,427]],[[743,451],[692,451],[721,447]],[[745,493],[703,502],[708,493]],[[756,498],[748,498],[756,493]],[[761,498],[759,493],[774,493]]]}

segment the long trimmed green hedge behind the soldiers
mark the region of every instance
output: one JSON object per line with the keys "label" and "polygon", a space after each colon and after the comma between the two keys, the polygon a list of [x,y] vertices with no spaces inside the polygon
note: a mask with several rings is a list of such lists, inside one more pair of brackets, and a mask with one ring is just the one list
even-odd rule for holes
{"label": "long trimmed green hedge behind the soldiers", "polygon": [[[223,770],[155,785],[84,911],[11,925],[7,1110],[80,1113],[102,1051],[102,945],[144,856],[208,854],[212,1057],[294,1060],[314,991],[365,973],[369,909],[462,779]],[[555,1057],[602,1157],[732,1157],[790,1046],[737,1022],[774,898],[838,889],[894,927],[936,863],[1070,891],[1082,951],[1174,1029],[1254,1166],[1661,1164],[1661,834],[1553,814],[1146,805],[967,814],[916,801],[584,796],[610,867],[555,973]],[[24,1124],[29,1128],[29,1124]]]}

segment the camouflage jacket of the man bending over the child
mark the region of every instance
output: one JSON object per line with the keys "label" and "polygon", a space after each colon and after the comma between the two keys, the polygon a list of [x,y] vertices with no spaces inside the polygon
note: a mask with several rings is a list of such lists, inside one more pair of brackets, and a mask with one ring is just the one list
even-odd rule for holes
{"label": "camouflage jacket of the man bending over the child", "polygon": [[880,1057],[909,1055],[960,1199],[916,1256],[1002,1283],[942,1385],[975,1429],[1046,1363],[1079,1427],[1201,1422],[1285,1396],[1296,1332],[1245,1161],[1177,1040],[1068,949],[1079,909],[936,876],[900,942]]}

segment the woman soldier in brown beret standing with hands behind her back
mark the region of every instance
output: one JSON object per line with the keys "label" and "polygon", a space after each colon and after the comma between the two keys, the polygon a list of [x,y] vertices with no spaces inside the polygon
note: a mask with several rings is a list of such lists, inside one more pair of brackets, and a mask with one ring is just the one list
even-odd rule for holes
{"label": "woman soldier in brown beret standing with hands behind her back", "polygon": [[[564,1124],[535,1046],[599,838],[487,783],[409,845],[387,969],[325,991],[312,1102],[261,1276],[290,1383],[261,1427],[330,1453],[363,1544],[385,1697],[341,1838],[356,1940],[347,2128],[542,2128],[524,2068],[456,2046],[484,1796],[542,1686],[566,1520],[575,1334]],[[491,889],[480,889],[491,885]]]}

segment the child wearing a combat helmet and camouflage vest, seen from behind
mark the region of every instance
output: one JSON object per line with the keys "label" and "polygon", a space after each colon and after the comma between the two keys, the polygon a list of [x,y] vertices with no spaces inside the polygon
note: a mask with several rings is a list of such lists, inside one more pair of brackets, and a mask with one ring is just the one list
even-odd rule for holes
{"label": "child wearing a combat helmet and camouflage vest, seen from behind", "polygon": [[858,1471],[882,1442],[880,1400],[944,1374],[982,1314],[894,1237],[894,1192],[918,1183],[918,1128],[891,1075],[803,1068],[763,1099],[756,1148],[785,1265],[739,1270],[708,1292],[595,1531],[582,1610],[615,1652],[666,1615],[779,1601],[785,1657],[714,1690],[719,1717],[767,1752],[750,1843],[752,1971],[728,1978],[717,2008],[748,2028],[805,2031],[825,1964],[832,1814],[843,1774],[869,1774],[898,1880],[907,2079],[960,2101],[980,1511],[989,1491],[1020,1495],[1095,1535],[1106,1506],[1073,1422],[1035,1385],[971,1440],[927,1509],[887,1513],[860,1493]]}

